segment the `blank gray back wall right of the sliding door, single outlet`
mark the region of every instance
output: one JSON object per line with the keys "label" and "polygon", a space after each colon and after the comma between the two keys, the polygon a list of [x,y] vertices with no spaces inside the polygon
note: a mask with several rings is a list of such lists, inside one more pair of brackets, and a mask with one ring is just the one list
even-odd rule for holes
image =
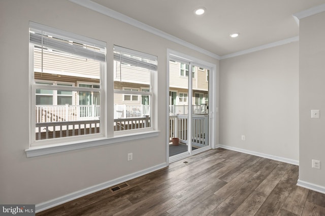
{"label": "blank gray back wall right of the sliding door, single outlet", "polygon": [[221,145],[299,160],[298,61],[298,42],[220,61]]}

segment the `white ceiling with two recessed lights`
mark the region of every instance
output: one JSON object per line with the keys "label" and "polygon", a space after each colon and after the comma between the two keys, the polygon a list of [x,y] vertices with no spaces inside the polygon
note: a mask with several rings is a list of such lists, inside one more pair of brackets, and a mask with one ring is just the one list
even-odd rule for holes
{"label": "white ceiling with two recessed lights", "polygon": [[[218,56],[299,35],[292,16],[325,0],[92,0]],[[205,7],[197,16],[194,9]],[[240,36],[231,38],[232,32]]]}

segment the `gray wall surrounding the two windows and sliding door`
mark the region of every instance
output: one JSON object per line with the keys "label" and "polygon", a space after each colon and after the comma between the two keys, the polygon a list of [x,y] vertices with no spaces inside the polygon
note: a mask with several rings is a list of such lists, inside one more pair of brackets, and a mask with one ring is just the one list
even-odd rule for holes
{"label": "gray wall surrounding the two windows and sliding door", "polygon": [[[107,42],[113,77],[113,45],[158,57],[156,98],[159,136],[26,158],[29,137],[29,21]],[[166,163],[167,49],[218,60],[65,0],[0,1],[0,203],[41,203]],[[162,114],[161,114],[162,113]],[[133,152],[133,161],[127,153]]]}

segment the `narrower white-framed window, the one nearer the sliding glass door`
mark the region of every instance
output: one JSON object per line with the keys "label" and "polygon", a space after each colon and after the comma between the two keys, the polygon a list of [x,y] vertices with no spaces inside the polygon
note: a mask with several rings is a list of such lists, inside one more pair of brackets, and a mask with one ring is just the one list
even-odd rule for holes
{"label": "narrower white-framed window, the one nearer the sliding glass door", "polygon": [[152,128],[157,57],[114,46],[114,132]]}

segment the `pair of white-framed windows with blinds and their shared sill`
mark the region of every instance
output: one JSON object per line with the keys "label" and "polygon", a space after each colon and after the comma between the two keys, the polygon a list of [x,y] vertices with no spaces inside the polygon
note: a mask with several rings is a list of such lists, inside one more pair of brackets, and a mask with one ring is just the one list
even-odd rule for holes
{"label": "pair of white-framed windows with blinds and their shared sill", "polygon": [[29,22],[27,157],[158,136],[157,57],[114,46],[110,61],[106,42]]}

